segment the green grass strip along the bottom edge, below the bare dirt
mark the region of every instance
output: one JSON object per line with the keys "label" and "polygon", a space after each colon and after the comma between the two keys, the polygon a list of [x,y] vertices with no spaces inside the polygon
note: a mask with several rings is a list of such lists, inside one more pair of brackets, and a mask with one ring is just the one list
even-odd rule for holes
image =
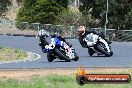
{"label": "green grass strip along the bottom edge, below the bare dirt", "polygon": [[83,86],[80,86],[76,82],[76,74],[73,74],[72,76],[36,75],[36,76],[29,77],[25,80],[0,78],[0,88],[132,88],[132,83],[129,83],[129,84],[85,84]]}

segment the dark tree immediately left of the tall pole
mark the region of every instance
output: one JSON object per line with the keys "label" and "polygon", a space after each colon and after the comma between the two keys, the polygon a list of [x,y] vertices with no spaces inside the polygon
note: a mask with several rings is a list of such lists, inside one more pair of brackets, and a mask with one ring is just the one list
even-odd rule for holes
{"label": "dark tree immediately left of the tall pole", "polygon": [[[80,0],[80,2],[82,4],[80,5],[79,10],[82,12],[82,14],[85,16],[89,15],[92,18],[92,20],[95,20],[95,25],[93,26],[101,26],[101,23],[98,24],[98,22],[102,20],[104,17],[104,8],[105,8],[104,1],[103,0]],[[86,23],[89,23],[89,22],[86,22]]]}

